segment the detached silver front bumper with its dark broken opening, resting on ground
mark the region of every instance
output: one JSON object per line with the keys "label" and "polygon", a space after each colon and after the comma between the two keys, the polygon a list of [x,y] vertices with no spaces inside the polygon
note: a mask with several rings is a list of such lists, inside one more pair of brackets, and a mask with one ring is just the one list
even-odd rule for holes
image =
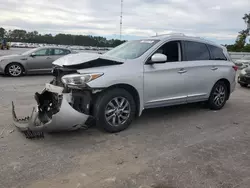
{"label": "detached silver front bumper with its dark broken opening, resting on ground", "polygon": [[38,103],[31,116],[18,119],[12,102],[14,125],[22,132],[58,132],[76,130],[85,126],[89,115],[78,112],[70,104],[70,93],[61,93],[60,87],[46,84],[41,94],[36,93]]}

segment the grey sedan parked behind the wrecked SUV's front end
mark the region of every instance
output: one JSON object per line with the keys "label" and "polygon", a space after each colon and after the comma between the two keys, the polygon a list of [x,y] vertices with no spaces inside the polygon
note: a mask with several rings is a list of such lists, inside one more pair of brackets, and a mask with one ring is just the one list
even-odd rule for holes
{"label": "grey sedan parked behind the wrecked SUV's front end", "polygon": [[0,73],[18,77],[29,73],[48,73],[52,70],[52,62],[72,53],[66,48],[40,47],[22,54],[0,57]]}

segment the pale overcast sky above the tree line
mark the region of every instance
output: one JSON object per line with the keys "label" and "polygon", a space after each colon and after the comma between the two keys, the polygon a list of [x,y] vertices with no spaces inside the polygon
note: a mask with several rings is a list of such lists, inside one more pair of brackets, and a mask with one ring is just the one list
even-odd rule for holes
{"label": "pale overcast sky above the tree line", "polygon": [[[250,0],[123,0],[123,39],[182,32],[233,43]],[[0,27],[119,38],[120,0],[0,0]]]}

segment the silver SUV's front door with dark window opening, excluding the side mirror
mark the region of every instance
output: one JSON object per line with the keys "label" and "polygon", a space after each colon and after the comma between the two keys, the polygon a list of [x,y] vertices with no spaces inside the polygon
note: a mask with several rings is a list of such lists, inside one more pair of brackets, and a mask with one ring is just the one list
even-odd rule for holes
{"label": "silver SUV's front door with dark window opening, excluding the side mirror", "polygon": [[167,42],[155,53],[166,55],[167,61],[144,65],[145,108],[187,103],[188,75],[182,61],[182,43]]}

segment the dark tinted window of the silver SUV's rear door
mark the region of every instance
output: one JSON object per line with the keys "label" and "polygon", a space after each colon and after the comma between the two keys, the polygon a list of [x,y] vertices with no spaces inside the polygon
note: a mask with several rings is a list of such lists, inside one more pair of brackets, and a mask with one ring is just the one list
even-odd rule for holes
{"label": "dark tinted window of the silver SUV's rear door", "polygon": [[197,61],[197,60],[209,60],[210,55],[206,44],[193,41],[184,41],[186,60]]}

